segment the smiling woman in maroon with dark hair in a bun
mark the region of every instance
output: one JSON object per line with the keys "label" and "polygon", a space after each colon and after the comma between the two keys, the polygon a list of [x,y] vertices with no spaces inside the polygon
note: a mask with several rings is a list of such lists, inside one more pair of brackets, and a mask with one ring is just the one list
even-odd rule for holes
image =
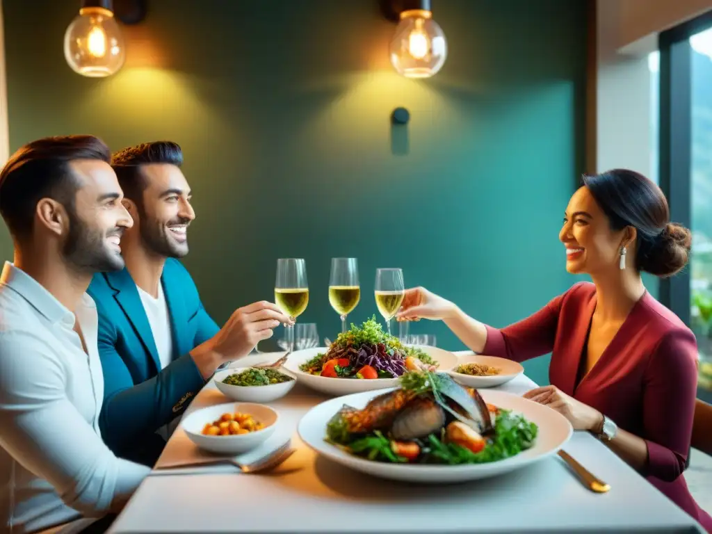
{"label": "smiling woman in maroon with dark hair in a bun", "polygon": [[551,352],[552,385],[525,397],[598,436],[712,533],[712,518],[682,476],[696,399],[696,340],[640,276],[680,271],[689,230],[669,221],[656,184],[614,169],[585,177],[559,238],[567,271],[586,273],[593,283],[577,283],[519,323],[492,328],[424,288],[406,292],[399,320],[444,320],[474,352],[518,362]]}

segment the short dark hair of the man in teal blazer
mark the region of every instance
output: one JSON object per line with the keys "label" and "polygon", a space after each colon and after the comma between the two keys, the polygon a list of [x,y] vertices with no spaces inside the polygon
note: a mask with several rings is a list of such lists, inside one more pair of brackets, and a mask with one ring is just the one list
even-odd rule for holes
{"label": "short dark hair of the man in teal blazer", "polygon": [[119,150],[111,159],[111,166],[119,179],[124,197],[139,205],[146,187],[141,166],[150,163],[166,163],[180,167],[183,164],[183,151],[176,142],[154,141]]}

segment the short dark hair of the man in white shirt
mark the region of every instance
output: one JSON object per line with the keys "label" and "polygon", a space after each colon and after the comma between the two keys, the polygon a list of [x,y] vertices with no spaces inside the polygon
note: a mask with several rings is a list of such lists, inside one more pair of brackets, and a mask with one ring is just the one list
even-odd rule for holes
{"label": "short dark hair of the man in white shirt", "polygon": [[0,214],[14,238],[31,234],[37,203],[51,198],[73,212],[77,159],[109,163],[111,151],[93,135],[44,137],[19,148],[0,171]]}

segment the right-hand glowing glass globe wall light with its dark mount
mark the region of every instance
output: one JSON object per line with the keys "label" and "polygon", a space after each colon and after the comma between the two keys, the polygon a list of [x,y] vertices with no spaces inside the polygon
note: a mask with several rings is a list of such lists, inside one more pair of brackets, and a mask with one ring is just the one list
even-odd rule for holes
{"label": "right-hand glowing glass globe wall light with its dark mount", "polygon": [[445,33],[433,20],[431,0],[380,0],[384,15],[398,21],[390,44],[393,68],[406,78],[430,78],[445,63]]}

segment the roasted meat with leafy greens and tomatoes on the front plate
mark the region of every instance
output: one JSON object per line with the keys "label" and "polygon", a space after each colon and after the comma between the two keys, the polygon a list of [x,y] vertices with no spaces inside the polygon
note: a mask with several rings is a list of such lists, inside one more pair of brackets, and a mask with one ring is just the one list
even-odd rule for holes
{"label": "roasted meat with leafy greens and tomatoes on the front plate", "polygon": [[372,461],[446,465],[499,461],[535,444],[536,424],[487,404],[449,375],[414,371],[400,382],[364,409],[342,407],[326,441]]}

